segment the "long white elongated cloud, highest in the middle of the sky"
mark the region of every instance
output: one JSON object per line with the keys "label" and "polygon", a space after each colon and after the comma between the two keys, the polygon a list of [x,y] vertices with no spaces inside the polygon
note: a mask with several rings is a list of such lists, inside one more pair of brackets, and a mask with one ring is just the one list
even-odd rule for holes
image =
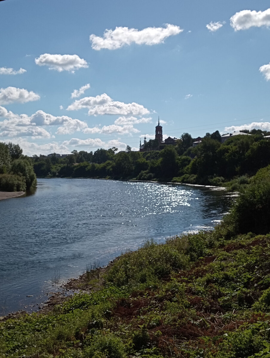
{"label": "long white elongated cloud, highest in the middle of the sky", "polygon": [[106,29],[103,37],[90,35],[89,39],[94,50],[103,48],[115,50],[124,45],[136,43],[138,45],[155,45],[164,42],[164,39],[182,32],[179,26],[166,24],[162,27],[148,27],[143,30],[129,29],[127,27],[116,27],[115,30]]}

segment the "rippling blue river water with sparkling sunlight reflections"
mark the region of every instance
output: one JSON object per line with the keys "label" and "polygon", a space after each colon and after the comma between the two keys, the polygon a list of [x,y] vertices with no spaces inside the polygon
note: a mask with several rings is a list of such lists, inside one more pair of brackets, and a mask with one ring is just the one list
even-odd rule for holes
{"label": "rippling blue river water with sparkling sunlight reflections", "polygon": [[36,310],[56,280],[147,239],[212,228],[230,202],[186,185],[38,179],[30,195],[0,200],[0,314]]}

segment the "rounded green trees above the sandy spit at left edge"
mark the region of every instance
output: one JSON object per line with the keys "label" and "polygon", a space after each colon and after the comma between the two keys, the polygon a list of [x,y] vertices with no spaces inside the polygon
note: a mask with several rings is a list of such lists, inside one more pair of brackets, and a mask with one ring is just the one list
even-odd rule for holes
{"label": "rounded green trees above the sandy spit at left edge", "polygon": [[33,160],[18,144],[0,142],[0,190],[20,192],[36,185]]}

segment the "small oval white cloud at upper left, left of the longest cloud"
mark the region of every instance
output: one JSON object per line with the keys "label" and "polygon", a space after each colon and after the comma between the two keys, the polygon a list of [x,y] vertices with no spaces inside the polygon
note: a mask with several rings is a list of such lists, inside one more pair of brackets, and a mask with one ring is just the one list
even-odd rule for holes
{"label": "small oval white cloud at upper left, left of the longest cloud", "polygon": [[88,67],[87,62],[78,55],[51,55],[44,53],[35,58],[35,63],[38,66],[49,66],[49,69],[55,69],[58,72],[70,71],[74,73],[76,69]]}

